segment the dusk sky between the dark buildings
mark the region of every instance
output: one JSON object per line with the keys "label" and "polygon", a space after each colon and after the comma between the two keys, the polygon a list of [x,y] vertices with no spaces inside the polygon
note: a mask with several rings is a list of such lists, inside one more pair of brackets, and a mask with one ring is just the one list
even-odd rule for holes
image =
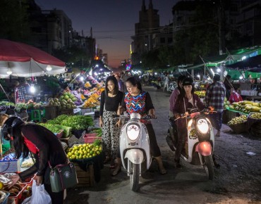
{"label": "dusk sky between the dark buildings", "polygon": [[[172,22],[172,7],[178,0],[152,0],[159,10],[160,25]],[[118,68],[121,60],[130,57],[131,36],[139,20],[142,0],[35,0],[42,10],[63,10],[72,20],[73,30],[92,35],[97,46],[108,54],[109,65]],[[150,0],[145,0],[148,8]]]}

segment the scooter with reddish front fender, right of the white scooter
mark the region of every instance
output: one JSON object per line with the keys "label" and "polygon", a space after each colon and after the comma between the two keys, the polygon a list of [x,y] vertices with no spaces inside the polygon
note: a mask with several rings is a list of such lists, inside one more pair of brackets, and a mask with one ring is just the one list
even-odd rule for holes
{"label": "scooter with reddish front fender, right of the white scooter", "polygon": [[[214,132],[210,120],[206,117],[210,110],[191,109],[186,117],[188,136],[186,144],[181,153],[181,158],[192,165],[202,165],[205,168],[207,177],[214,178]],[[179,120],[179,118],[175,119]],[[174,119],[169,120],[169,130],[166,142],[172,151],[176,151],[178,144],[178,132]]]}

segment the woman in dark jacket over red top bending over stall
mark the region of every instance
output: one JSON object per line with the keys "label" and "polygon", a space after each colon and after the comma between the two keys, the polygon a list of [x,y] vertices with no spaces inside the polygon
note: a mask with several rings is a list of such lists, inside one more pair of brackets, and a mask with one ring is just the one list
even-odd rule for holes
{"label": "woman in dark jacket over red top bending over stall", "polygon": [[68,160],[59,139],[49,129],[34,123],[25,123],[20,117],[9,117],[2,128],[4,139],[11,140],[11,146],[15,148],[16,158],[28,158],[31,155],[35,159],[32,167],[10,178],[12,183],[9,186],[19,180],[25,181],[36,173],[36,184],[44,184],[44,189],[51,196],[51,203],[63,203],[63,191],[53,193],[49,180],[49,163],[54,167],[65,164]]}

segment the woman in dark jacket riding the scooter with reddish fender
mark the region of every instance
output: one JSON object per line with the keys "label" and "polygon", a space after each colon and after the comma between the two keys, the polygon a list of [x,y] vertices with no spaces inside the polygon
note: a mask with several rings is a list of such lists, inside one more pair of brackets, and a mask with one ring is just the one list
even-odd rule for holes
{"label": "woman in dark jacket riding the scooter with reddish fender", "polygon": [[[186,77],[183,79],[182,85],[183,88],[181,90],[181,94],[178,95],[174,105],[174,116],[176,118],[180,117],[181,114],[184,114],[188,108],[198,108],[199,110],[203,110],[203,108],[205,108],[198,95],[194,94],[195,89],[193,85],[193,79]],[[188,134],[186,121],[186,118],[176,120],[176,126],[178,128],[178,144],[174,158],[176,168],[181,167],[179,158],[181,157],[181,152],[185,145],[186,136]]]}

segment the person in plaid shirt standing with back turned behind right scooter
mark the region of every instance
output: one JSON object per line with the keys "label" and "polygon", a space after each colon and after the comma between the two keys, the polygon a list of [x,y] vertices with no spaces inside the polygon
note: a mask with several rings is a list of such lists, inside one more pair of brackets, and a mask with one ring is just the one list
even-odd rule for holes
{"label": "person in plaid shirt standing with back turned behind right scooter", "polygon": [[215,129],[217,129],[216,136],[220,136],[225,96],[226,88],[224,84],[220,82],[220,75],[215,74],[213,77],[213,83],[207,87],[205,101],[207,106],[212,106],[214,107],[214,110],[217,111],[217,113],[210,114],[212,125]]}

